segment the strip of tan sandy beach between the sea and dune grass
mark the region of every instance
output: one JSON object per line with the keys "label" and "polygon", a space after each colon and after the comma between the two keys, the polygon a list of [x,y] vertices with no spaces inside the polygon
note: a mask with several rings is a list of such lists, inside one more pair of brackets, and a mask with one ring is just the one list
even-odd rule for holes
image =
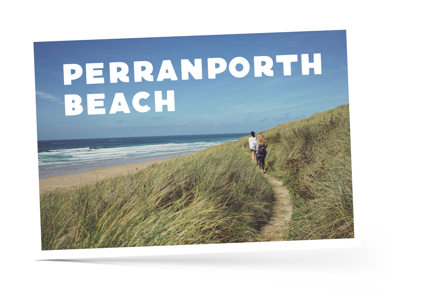
{"label": "strip of tan sandy beach between the sea and dune grass", "polygon": [[93,182],[98,179],[103,179],[105,177],[115,176],[120,173],[127,173],[128,171],[135,172],[137,170],[137,167],[140,170],[142,168],[148,167],[151,164],[161,163],[169,159],[172,158],[144,161],[125,165],[115,165],[110,167],[101,167],[83,173],[70,173],[66,175],[42,178],[39,179],[39,193],[78,187],[81,184]]}

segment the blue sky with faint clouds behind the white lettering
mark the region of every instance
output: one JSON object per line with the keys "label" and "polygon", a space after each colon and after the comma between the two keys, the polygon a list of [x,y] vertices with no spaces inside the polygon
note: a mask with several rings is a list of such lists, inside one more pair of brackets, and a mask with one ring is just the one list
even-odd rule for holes
{"label": "blue sky with faint clouds behind the white lettering", "polygon": [[[349,103],[346,31],[285,32],[138,39],[35,42],[38,140],[154,135],[249,133]],[[301,74],[301,54],[320,53],[322,74]],[[298,55],[291,75],[283,75],[276,55]],[[273,59],[274,76],[254,76],[254,56]],[[242,78],[229,72],[235,57],[249,61]],[[203,79],[181,79],[181,59],[202,59]],[[227,69],[207,78],[207,58],[224,58]],[[171,60],[178,80],[156,81],[163,60]],[[154,81],[134,82],[134,61],[153,65]],[[86,83],[86,63],[103,63],[105,83]],[[110,62],[129,66],[129,82],[110,83]],[[83,75],[64,85],[63,64],[79,64]],[[238,70],[242,66],[238,65]],[[175,111],[155,112],[154,91],[174,90]],[[137,112],[132,97],[150,93],[151,110]],[[131,113],[109,114],[115,93],[122,92]],[[104,93],[104,115],[87,115],[87,94]],[[84,111],[65,116],[65,94],[78,94]],[[143,100],[142,100],[143,101]]]}

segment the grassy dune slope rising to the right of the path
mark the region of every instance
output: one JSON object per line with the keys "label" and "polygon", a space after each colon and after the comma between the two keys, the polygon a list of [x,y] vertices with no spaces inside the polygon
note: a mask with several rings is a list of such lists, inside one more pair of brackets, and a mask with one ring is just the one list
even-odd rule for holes
{"label": "grassy dune slope rising to the right of the path", "polygon": [[292,195],[287,240],[354,238],[349,104],[262,133],[268,174]]}

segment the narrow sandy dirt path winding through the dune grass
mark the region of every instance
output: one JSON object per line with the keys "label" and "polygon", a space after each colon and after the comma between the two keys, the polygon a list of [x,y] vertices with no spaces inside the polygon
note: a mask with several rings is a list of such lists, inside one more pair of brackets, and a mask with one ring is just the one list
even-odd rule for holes
{"label": "narrow sandy dirt path winding through the dune grass", "polygon": [[292,205],[290,194],[287,188],[281,186],[283,183],[274,177],[265,174],[266,178],[274,185],[277,202],[274,206],[274,216],[271,217],[269,224],[261,230],[261,241],[284,241],[283,234],[286,225],[284,222],[289,220],[292,215]]}

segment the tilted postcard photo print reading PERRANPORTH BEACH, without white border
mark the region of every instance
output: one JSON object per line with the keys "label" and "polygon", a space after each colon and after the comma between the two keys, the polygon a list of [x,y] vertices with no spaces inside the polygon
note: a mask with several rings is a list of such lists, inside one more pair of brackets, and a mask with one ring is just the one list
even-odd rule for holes
{"label": "tilted postcard photo print reading PERRANPORTH BEACH, without white border", "polygon": [[42,250],[355,237],[346,30],[34,61]]}

